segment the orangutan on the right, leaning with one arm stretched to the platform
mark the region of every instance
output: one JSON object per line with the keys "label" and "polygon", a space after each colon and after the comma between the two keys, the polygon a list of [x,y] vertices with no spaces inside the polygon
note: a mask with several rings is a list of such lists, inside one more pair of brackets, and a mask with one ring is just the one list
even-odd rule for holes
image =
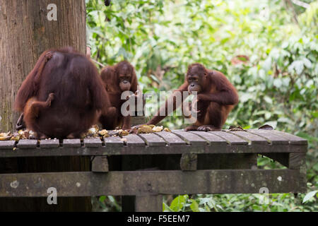
{"label": "orangutan on the right, leaning with one arm stretched to the platform", "polygon": [[[184,92],[188,91],[197,92],[197,119],[192,126],[187,126],[185,130],[198,130],[198,131],[213,131],[219,130],[225,124],[229,112],[237,105],[238,95],[234,86],[228,79],[220,73],[220,71],[213,71],[206,69],[202,64],[192,64],[187,71],[185,82],[174,91]],[[170,102],[173,102],[173,110],[177,107],[176,100],[172,94]],[[182,100],[183,102],[183,100]],[[158,113],[148,121],[150,124],[158,124],[163,120],[167,114],[168,101],[165,102],[165,109],[159,109]],[[165,112],[161,116],[159,112]]]}

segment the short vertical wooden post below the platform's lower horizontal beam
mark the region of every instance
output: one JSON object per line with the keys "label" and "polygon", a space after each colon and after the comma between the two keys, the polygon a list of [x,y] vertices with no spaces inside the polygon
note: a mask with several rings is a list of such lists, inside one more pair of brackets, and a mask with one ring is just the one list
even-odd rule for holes
{"label": "short vertical wooden post below the platform's lower horizontal beam", "polygon": [[135,198],[136,212],[162,212],[163,196],[136,196]]}

